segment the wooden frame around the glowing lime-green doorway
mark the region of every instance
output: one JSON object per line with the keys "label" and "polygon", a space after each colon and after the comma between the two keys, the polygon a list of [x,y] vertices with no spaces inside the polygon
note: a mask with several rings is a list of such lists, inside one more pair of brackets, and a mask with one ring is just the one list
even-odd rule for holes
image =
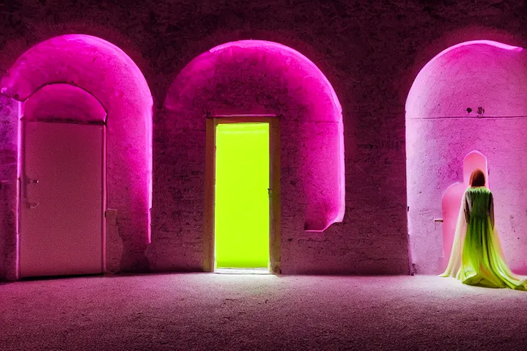
{"label": "wooden frame around the glowing lime-green doorway", "polygon": [[215,204],[215,145],[216,127],[227,123],[269,123],[269,261],[270,273],[280,273],[280,129],[277,116],[207,116],[205,144],[205,208],[203,223],[203,271],[213,272],[214,204]]}

